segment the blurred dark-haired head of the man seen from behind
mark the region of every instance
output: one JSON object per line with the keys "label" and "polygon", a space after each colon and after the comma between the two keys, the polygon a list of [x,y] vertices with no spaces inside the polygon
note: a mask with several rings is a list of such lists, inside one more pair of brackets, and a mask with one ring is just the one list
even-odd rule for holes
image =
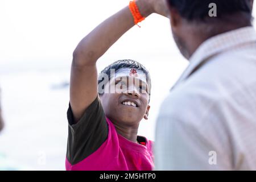
{"label": "blurred dark-haired head of the man seen from behind", "polygon": [[167,0],[172,34],[184,57],[208,38],[251,26],[253,0]]}

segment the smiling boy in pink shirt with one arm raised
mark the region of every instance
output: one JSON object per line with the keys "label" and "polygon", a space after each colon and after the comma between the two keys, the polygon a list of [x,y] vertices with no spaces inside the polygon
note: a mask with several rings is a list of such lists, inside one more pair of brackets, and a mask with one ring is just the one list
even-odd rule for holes
{"label": "smiling boy in pink shirt with one arm raised", "polygon": [[117,61],[101,72],[101,76],[105,75],[103,87],[102,80],[97,82],[96,61],[143,17],[151,13],[166,16],[166,12],[164,1],[130,2],[90,32],[75,49],[67,113],[67,170],[154,167],[152,142],[137,136],[139,122],[147,119],[150,110],[151,82],[146,68],[133,60]]}

